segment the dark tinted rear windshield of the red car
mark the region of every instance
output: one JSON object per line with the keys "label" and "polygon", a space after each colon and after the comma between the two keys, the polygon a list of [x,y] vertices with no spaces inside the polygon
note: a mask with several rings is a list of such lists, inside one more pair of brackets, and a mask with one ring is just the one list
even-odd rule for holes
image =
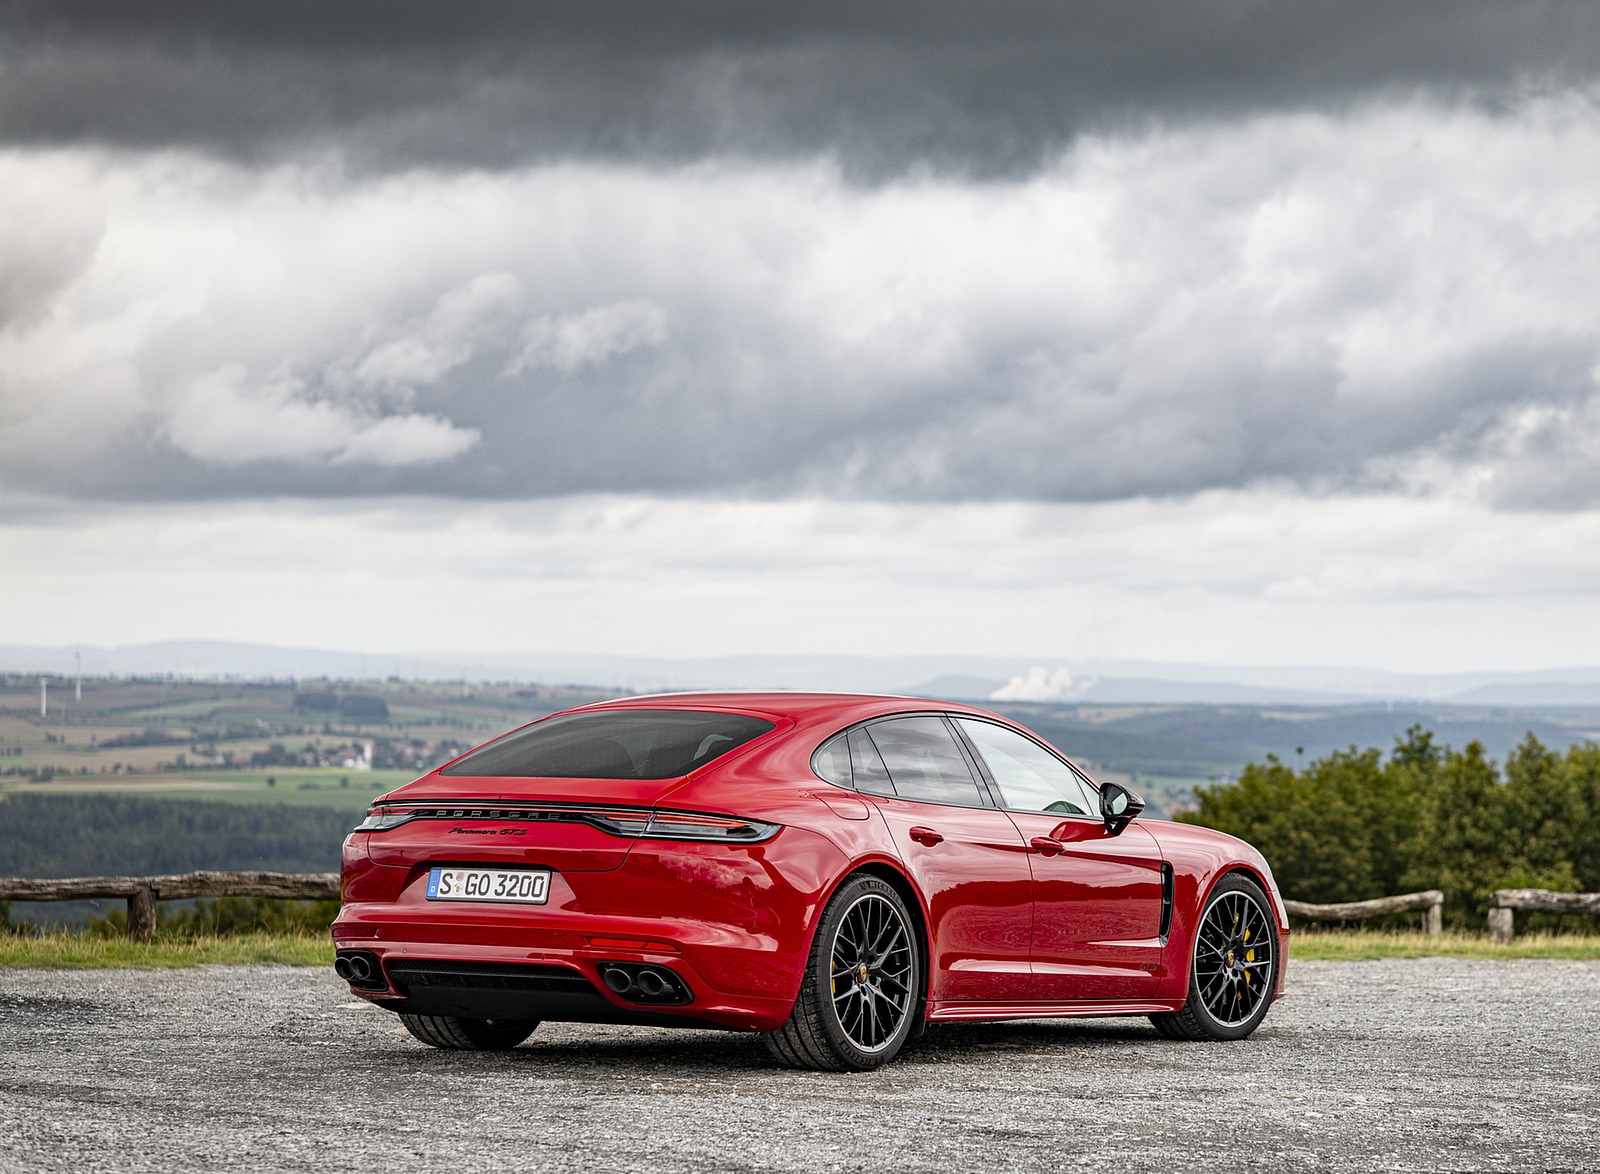
{"label": "dark tinted rear windshield of the red car", "polygon": [[506,734],[440,774],[518,779],[675,779],[760,737],[742,713],[629,709],[566,713]]}

